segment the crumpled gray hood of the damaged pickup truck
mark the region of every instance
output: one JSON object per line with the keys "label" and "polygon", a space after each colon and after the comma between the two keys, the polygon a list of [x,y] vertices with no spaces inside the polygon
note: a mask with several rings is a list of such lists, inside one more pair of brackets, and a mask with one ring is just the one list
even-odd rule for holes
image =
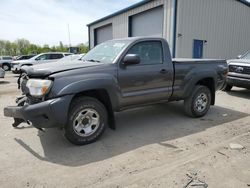
{"label": "crumpled gray hood of the damaged pickup truck", "polygon": [[93,66],[100,66],[103,63],[88,62],[88,61],[74,61],[74,62],[62,62],[62,63],[45,63],[34,66],[23,66],[22,72],[25,72],[29,77],[40,78],[47,77],[54,73],[64,72],[68,70],[87,68]]}

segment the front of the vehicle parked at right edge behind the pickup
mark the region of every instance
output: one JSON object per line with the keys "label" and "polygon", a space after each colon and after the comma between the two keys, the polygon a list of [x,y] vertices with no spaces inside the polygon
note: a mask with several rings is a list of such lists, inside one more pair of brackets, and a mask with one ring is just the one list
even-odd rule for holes
{"label": "front of the vehicle parked at right edge behind the pickup", "polygon": [[230,91],[233,86],[250,89],[250,51],[227,63],[229,72],[224,91]]}

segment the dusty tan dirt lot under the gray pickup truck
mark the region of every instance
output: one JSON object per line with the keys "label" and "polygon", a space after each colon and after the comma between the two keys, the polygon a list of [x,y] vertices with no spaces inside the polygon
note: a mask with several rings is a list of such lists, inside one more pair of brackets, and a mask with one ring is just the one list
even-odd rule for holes
{"label": "dusty tan dirt lot under the gray pickup truck", "polygon": [[0,187],[179,188],[190,181],[187,173],[208,187],[250,187],[248,90],[218,92],[200,119],[185,116],[181,102],[118,113],[116,131],[79,147],[57,129],[12,128],[3,108],[20,94],[16,79],[0,80]]}

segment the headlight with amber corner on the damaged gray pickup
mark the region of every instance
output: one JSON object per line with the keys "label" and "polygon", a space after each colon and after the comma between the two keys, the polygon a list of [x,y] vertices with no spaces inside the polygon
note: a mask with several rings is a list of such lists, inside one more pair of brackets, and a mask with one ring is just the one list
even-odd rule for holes
{"label": "headlight with amber corner on the damaged gray pickup", "polygon": [[43,97],[47,94],[52,86],[51,80],[29,79],[27,84],[29,93],[33,97]]}

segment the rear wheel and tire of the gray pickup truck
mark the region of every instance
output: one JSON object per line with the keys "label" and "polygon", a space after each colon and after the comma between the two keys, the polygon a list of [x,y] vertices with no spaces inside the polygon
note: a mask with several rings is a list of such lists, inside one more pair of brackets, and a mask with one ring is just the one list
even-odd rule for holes
{"label": "rear wheel and tire of the gray pickup truck", "polygon": [[202,85],[197,85],[193,93],[184,100],[184,108],[187,115],[191,117],[202,117],[210,108],[211,91]]}

